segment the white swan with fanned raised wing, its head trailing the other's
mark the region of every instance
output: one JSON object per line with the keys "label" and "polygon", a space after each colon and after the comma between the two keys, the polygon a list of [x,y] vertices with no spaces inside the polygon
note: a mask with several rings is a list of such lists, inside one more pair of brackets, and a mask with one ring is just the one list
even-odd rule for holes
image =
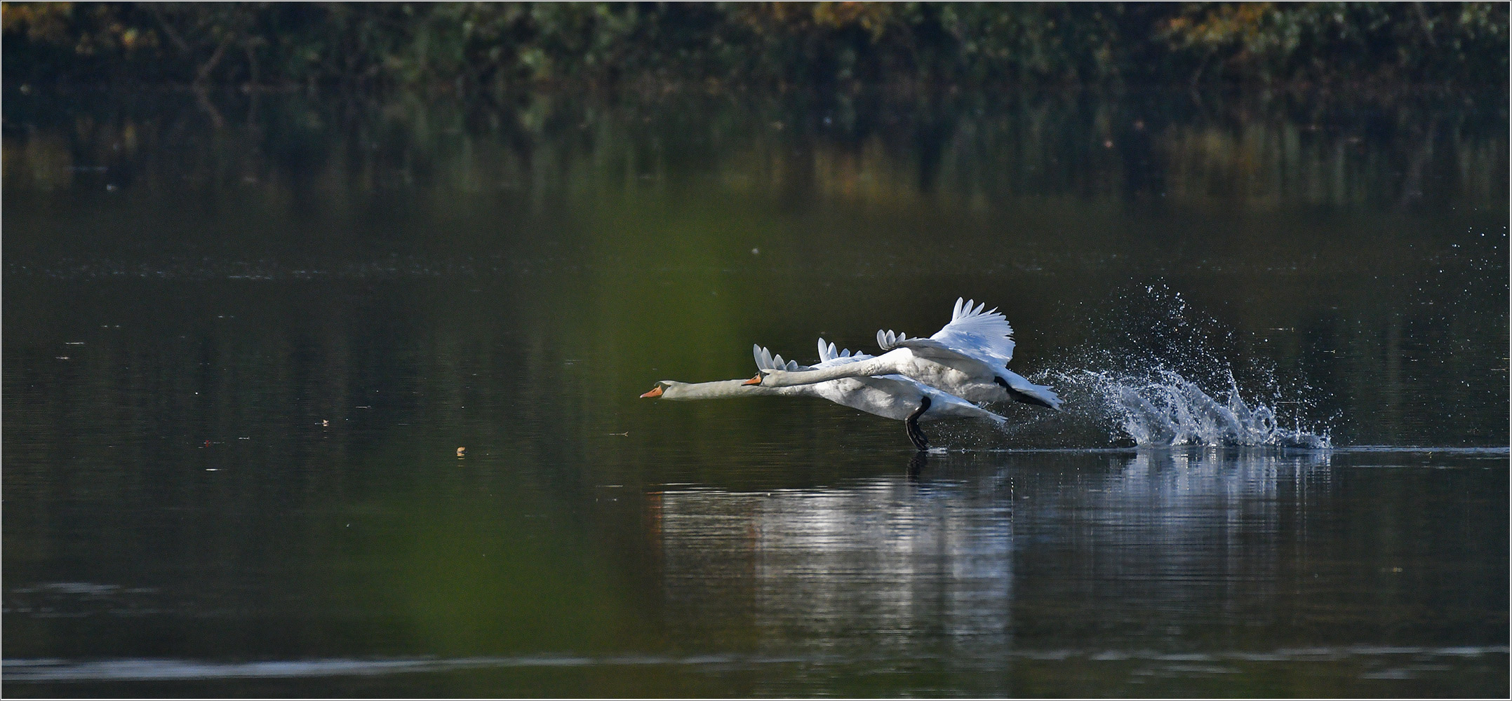
{"label": "white swan with fanned raised wing, its head trailing the other's", "polygon": [[1061,399],[1046,385],[1009,370],[1013,328],[996,308],[956,298],[951,322],[928,338],[877,331],[881,355],[815,369],[762,369],[753,387],[797,387],[841,378],[901,375],[971,402],[1025,402],[1060,409]]}

